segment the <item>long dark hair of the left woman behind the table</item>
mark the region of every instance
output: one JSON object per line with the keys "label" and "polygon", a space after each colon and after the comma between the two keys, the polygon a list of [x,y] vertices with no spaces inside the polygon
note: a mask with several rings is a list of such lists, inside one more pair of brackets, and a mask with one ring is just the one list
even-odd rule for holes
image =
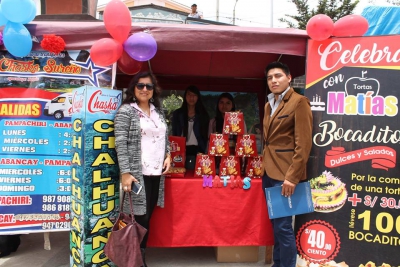
{"label": "long dark hair of the left woman behind the table", "polygon": [[208,122],[210,120],[210,117],[208,116],[207,110],[203,105],[203,102],[201,101],[201,95],[200,95],[200,90],[197,88],[195,85],[190,85],[186,88],[185,94],[183,95],[183,102],[181,109],[183,111],[183,136],[187,137],[188,134],[188,108],[187,108],[187,101],[186,101],[186,95],[188,92],[191,92],[193,94],[197,95],[197,102],[195,105],[195,111],[196,111],[196,116],[200,117],[200,134],[204,138],[204,140],[208,139]]}

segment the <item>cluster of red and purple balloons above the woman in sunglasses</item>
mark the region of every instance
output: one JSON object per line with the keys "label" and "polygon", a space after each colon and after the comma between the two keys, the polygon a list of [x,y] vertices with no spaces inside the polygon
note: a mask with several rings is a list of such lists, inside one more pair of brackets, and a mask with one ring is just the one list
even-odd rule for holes
{"label": "cluster of red and purple balloons above the woman in sunglasses", "polygon": [[[111,0],[104,9],[104,25],[113,38],[96,41],[90,56],[98,66],[109,66],[118,62],[118,68],[126,74],[136,74],[142,62],[150,60],[157,52],[153,36],[138,32],[129,36],[131,13],[121,0]],[[129,36],[129,38],[128,38]]]}

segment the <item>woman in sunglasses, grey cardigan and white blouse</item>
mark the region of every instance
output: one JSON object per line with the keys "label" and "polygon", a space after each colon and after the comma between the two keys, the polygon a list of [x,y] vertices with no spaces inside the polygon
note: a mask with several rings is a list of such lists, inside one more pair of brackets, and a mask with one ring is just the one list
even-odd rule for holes
{"label": "woman in sunglasses, grey cardigan and white blouse", "polygon": [[[143,186],[139,194],[132,194],[132,201],[135,220],[147,229],[140,244],[144,266],[150,218],[156,205],[164,206],[164,174],[171,165],[160,91],[153,74],[136,74],[114,119],[122,189],[131,192],[133,182]],[[124,212],[130,213],[129,200],[124,201]]]}

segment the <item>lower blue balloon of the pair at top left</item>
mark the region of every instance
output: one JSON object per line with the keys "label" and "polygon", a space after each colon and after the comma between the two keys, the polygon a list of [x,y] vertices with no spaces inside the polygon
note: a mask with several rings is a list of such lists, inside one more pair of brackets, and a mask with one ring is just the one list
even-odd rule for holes
{"label": "lower blue balloon of the pair at top left", "polygon": [[3,31],[3,41],[8,52],[16,57],[27,56],[32,50],[31,34],[21,23],[7,22]]}

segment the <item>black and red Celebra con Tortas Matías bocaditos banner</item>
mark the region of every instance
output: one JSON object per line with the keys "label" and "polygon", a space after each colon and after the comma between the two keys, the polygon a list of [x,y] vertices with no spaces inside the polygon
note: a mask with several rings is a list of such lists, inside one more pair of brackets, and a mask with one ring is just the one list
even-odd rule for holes
{"label": "black and red Celebra con Tortas Mat\u00edas bocaditos banner", "polygon": [[307,167],[297,266],[399,266],[400,36],[310,40]]}

